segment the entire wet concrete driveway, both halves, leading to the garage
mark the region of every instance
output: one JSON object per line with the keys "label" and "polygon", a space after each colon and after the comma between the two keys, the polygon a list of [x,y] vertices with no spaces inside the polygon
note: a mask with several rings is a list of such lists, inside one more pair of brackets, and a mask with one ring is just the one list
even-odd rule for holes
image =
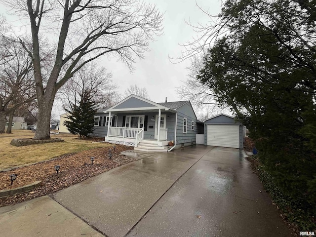
{"label": "entire wet concrete driveway, both halves, leading to the garage", "polygon": [[53,198],[109,237],[290,237],[243,154],[199,145],[178,149]]}

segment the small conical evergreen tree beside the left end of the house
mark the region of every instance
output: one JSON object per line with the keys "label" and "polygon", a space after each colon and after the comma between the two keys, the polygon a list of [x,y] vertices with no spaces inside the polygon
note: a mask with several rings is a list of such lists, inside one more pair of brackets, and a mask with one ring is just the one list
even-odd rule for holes
{"label": "small conical evergreen tree beside the left end of the house", "polygon": [[84,92],[81,95],[79,104],[73,104],[71,110],[67,110],[70,114],[64,124],[68,130],[73,134],[79,134],[89,137],[94,130],[94,115],[96,113],[96,104],[93,102],[89,93]]}

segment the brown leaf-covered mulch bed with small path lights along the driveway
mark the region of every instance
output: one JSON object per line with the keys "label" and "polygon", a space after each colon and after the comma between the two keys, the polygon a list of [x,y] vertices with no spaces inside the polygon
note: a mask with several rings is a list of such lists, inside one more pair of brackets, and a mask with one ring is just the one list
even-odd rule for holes
{"label": "brown leaf-covered mulch bed with small path lights along the driveway", "polygon": [[[112,152],[111,159],[108,156],[110,149]],[[54,193],[87,178],[134,161],[134,158],[120,154],[126,150],[130,150],[130,147],[116,145],[96,148],[76,154],[63,155],[52,160],[17,168],[13,171],[1,172],[0,190],[21,187],[38,180],[43,183],[42,186],[31,192],[0,198],[0,207]],[[93,165],[91,165],[90,157],[95,157]],[[54,169],[55,165],[60,165],[58,174]],[[11,186],[9,175],[13,173],[18,176]]]}

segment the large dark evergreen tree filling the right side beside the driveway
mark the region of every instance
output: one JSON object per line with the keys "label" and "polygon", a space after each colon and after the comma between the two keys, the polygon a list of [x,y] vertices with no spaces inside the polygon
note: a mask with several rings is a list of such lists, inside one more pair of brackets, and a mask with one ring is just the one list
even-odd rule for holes
{"label": "large dark evergreen tree filling the right side beside the driveway", "polygon": [[249,128],[283,193],[309,213],[316,213],[315,3],[227,0],[197,74]]}

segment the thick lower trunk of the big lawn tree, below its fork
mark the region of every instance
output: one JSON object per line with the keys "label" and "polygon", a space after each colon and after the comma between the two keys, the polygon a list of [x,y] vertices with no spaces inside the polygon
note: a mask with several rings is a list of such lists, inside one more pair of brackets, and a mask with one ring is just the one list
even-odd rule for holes
{"label": "thick lower trunk of the big lawn tree, below its fork", "polygon": [[41,99],[38,100],[39,114],[37,128],[33,138],[34,140],[45,140],[50,138],[50,115],[53,108],[55,94],[56,93],[54,93],[54,95],[50,95],[49,93],[45,93],[45,96],[42,96]]}

